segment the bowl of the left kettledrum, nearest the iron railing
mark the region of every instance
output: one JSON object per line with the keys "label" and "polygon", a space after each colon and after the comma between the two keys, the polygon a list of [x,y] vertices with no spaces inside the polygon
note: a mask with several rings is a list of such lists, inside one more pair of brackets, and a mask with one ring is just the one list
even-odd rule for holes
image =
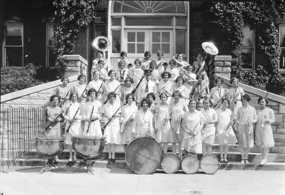
{"label": "bowl of the left kettledrum, nearest the iron railing", "polygon": [[54,157],[64,150],[64,137],[35,137],[35,144],[40,155]]}

